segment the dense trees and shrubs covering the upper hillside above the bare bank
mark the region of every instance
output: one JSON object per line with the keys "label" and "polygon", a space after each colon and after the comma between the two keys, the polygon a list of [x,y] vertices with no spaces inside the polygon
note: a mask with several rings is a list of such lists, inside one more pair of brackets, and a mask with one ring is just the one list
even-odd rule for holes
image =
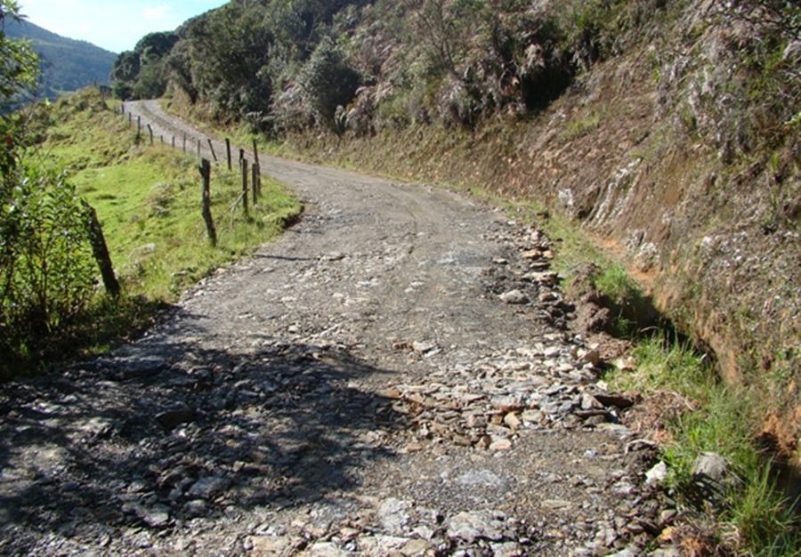
{"label": "dense trees and shrubs covering the upper hillside above the bare bank", "polygon": [[[169,87],[217,118],[246,120],[266,133],[321,126],[365,134],[433,122],[470,128],[490,115],[537,113],[578,74],[654,40],[684,4],[231,2],[173,33],[143,37],[117,58],[113,78],[121,98],[158,97]],[[740,141],[753,147],[796,116],[786,102],[799,93],[795,60],[782,53],[798,39],[799,9],[742,0],[711,3],[706,12],[748,30],[732,45],[728,86],[735,107],[764,97],[751,136]]]}

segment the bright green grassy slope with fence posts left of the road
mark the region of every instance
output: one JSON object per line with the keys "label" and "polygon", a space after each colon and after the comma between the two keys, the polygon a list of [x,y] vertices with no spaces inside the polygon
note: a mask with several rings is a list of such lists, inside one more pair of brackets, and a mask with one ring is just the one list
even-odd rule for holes
{"label": "bright green grassy slope with fence posts left of the road", "polygon": [[104,351],[148,326],[160,308],[212,270],[275,238],[302,207],[279,182],[263,176],[262,198],[243,214],[238,173],[212,168],[210,246],[200,213],[198,160],[135,141],[135,129],[86,90],[53,104],[41,145],[44,160],[68,169],[69,181],[97,211],[123,286],[120,300],[99,294],[84,319],[50,339],[49,351],[22,355],[20,369]]}

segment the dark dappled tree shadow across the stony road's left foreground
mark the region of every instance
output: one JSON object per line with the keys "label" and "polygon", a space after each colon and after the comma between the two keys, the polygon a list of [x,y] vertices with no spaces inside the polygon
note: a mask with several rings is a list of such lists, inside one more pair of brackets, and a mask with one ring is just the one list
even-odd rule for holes
{"label": "dark dappled tree shadow across the stony road's left foreground", "polygon": [[0,553],[49,534],[85,543],[126,525],[302,505],[347,493],[360,467],[394,456],[384,441],[403,416],[352,383],[385,372],[344,349],[146,346],[0,386]]}

